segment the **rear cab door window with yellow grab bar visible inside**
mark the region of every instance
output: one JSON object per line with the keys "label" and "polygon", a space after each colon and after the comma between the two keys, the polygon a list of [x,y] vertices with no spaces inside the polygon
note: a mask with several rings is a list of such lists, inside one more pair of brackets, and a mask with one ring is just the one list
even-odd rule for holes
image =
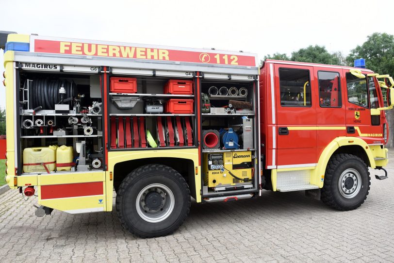
{"label": "rear cab door window with yellow grab bar visible inside", "polygon": [[310,107],[310,83],[309,70],[279,68],[280,105]]}

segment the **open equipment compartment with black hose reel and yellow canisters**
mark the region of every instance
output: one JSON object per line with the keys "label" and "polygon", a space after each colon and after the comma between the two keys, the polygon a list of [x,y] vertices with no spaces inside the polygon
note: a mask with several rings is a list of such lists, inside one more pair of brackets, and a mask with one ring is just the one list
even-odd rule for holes
{"label": "open equipment compartment with black hose reel and yellow canisters", "polygon": [[19,173],[103,169],[99,75],[20,71]]}

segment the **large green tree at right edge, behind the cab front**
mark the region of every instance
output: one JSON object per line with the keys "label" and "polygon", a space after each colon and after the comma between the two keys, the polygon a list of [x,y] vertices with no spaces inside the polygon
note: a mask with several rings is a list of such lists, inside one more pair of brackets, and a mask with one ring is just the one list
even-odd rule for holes
{"label": "large green tree at right edge, behind the cab front", "polygon": [[387,33],[373,33],[367,40],[350,51],[346,57],[348,66],[354,60],[364,58],[365,66],[380,74],[394,75],[394,36]]}

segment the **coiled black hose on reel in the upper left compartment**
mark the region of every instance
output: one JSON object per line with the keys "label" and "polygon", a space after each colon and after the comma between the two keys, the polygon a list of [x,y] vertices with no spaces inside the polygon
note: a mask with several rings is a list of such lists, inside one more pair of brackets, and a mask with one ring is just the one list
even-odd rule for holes
{"label": "coiled black hose on reel in the upper left compartment", "polygon": [[[49,78],[33,79],[33,85],[29,90],[30,108],[42,106],[44,110],[54,110],[55,104],[61,102],[59,94],[61,87],[66,89],[64,99],[75,97],[76,84],[74,82]],[[70,104],[71,101],[67,103]]]}

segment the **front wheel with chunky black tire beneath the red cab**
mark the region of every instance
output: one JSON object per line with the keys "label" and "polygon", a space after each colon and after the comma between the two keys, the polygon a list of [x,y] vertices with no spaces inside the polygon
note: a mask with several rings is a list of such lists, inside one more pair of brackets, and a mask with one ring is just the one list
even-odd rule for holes
{"label": "front wheel with chunky black tire beneath the red cab", "polygon": [[340,211],[356,209],[367,198],[370,181],[367,165],[359,157],[335,154],[327,164],[321,200]]}

